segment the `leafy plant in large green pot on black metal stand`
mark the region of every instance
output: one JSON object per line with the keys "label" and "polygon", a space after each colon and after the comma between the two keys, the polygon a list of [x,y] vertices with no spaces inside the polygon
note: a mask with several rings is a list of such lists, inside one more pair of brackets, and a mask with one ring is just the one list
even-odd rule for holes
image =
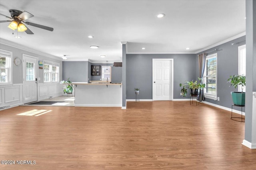
{"label": "leafy plant in large green pot on black metal stand", "polygon": [[230,86],[236,88],[238,85],[242,86],[242,92],[231,92],[232,100],[234,105],[245,106],[245,93],[243,92],[245,87],[245,76],[244,75],[233,75],[228,78]]}

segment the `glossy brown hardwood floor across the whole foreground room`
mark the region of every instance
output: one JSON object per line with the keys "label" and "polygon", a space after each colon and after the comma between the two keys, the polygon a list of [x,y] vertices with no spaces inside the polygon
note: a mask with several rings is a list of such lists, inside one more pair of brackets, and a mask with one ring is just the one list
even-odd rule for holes
{"label": "glossy brown hardwood floor across the whole foreground room", "polygon": [[241,144],[244,122],[230,116],[188,101],[18,106],[0,113],[0,159],[36,164],[0,169],[255,170],[256,150]]}

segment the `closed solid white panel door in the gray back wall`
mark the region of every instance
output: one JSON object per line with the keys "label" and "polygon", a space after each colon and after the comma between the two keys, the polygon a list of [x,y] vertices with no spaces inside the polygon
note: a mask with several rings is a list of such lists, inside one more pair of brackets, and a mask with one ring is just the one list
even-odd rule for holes
{"label": "closed solid white panel door in the gray back wall", "polygon": [[173,99],[173,59],[153,59],[153,100]]}

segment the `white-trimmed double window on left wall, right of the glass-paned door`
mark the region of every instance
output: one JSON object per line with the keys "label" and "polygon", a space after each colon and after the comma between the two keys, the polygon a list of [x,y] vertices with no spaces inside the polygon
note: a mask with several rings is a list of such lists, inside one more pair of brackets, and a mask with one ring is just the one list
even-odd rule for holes
{"label": "white-trimmed double window on left wall, right of the glass-paned door", "polygon": [[60,64],[44,60],[44,82],[59,82]]}

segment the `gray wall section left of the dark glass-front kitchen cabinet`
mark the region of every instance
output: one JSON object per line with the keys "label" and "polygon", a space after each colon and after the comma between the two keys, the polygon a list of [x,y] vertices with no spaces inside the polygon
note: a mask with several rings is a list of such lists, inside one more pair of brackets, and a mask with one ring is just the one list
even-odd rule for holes
{"label": "gray wall section left of the dark glass-front kitchen cabinet", "polygon": [[62,80],[88,82],[88,61],[63,61]]}

